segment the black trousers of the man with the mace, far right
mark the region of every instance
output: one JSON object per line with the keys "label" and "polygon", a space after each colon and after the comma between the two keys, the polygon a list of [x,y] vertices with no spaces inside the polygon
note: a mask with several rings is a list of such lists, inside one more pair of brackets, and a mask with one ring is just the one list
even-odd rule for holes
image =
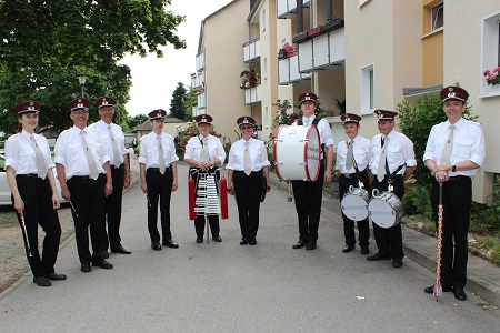
{"label": "black trousers of the man with the mace, far right", "polygon": [[[443,286],[464,287],[467,283],[469,259],[467,235],[471,202],[472,181],[469,176],[457,176],[442,184],[441,284]],[[438,228],[439,184],[436,179],[432,181],[431,203]]]}

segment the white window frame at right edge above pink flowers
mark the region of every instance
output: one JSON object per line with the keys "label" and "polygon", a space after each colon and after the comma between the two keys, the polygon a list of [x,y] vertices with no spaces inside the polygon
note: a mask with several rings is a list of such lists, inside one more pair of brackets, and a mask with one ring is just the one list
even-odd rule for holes
{"label": "white window frame at right edge above pink flowers", "polygon": [[483,72],[500,65],[500,10],[482,18],[480,98],[499,97],[500,85],[488,85]]}

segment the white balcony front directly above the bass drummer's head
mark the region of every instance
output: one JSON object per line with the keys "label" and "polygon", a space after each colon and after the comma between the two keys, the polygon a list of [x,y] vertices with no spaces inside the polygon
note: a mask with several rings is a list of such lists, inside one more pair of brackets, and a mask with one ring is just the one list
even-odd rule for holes
{"label": "white balcony front directly above the bass drummer's head", "polygon": [[344,28],[308,39],[299,43],[298,50],[301,73],[342,64],[346,60]]}

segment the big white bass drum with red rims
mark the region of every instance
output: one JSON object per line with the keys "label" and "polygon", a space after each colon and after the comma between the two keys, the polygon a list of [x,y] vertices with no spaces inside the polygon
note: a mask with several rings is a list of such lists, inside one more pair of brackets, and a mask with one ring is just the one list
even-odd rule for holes
{"label": "big white bass drum with red rims", "polygon": [[278,128],[273,160],[280,180],[316,181],[320,172],[320,135],[316,125]]}

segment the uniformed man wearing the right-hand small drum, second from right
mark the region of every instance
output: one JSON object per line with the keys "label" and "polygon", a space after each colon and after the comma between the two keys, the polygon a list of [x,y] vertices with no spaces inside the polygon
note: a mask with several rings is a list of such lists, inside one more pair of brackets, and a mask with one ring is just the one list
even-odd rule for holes
{"label": "uniformed man wearing the right-hand small drum, second from right", "polygon": [[[417,169],[413,142],[408,137],[394,130],[394,111],[376,110],[380,134],[371,140],[371,174],[370,196],[373,189],[388,191],[392,184],[393,193],[402,200],[404,182]],[[404,253],[402,251],[401,224],[381,228],[373,223],[373,235],[379,251],[368,256],[369,261],[392,258],[392,266],[402,266]]]}

